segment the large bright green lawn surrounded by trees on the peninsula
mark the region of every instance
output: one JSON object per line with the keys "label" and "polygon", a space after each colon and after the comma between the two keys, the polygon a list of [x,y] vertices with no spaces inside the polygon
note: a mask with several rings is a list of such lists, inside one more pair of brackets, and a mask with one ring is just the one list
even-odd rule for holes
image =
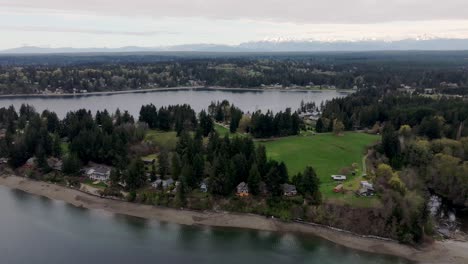
{"label": "large bright green lawn surrounded by trees on the peninsula", "polygon": [[343,136],[333,134],[300,135],[262,142],[271,159],[284,161],[289,174],[295,175],[312,166],[320,177],[320,190],[329,201],[348,203],[360,206],[375,206],[376,198],[361,198],[354,194],[336,194],[333,187],[337,185],[331,179],[332,174],[339,174],[344,167],[357,163],[356,176],[348,177],[345,189],[356,190],[361,180],[362,158],[366,147],[380,139],[379,136],[364,133],[346,133]]}

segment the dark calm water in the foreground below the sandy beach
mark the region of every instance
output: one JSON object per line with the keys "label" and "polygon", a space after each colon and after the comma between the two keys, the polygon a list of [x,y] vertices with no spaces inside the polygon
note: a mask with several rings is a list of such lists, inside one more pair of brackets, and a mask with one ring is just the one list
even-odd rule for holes
{"label": "dark calm water in the foreground below the sandy beach", "polygon": [[0,263],[408,263],[315,237],[188,227],[0,186]]}

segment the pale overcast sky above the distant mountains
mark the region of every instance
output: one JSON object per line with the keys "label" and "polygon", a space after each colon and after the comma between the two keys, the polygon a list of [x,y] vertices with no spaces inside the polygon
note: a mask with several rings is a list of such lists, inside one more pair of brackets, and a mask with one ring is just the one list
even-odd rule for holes
{"label": "pale overcast sky above the distant mountains", "polygon": [[0,50],[467,38],[468,0],[0,0]]}

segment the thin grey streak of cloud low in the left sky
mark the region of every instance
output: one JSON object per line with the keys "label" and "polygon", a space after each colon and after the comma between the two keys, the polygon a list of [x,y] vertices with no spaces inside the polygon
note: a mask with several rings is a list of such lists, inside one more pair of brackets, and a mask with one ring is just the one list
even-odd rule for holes
{"label": "thin grey streak of cloud low in the left sky", "polygon": [[84,33],[97,35],[127,35],[127,36],[155,36],[166,34],[179,34],[172,31],[113,31],[113,30],[97,30],[86,28],[53,28],[43,26],[2,26],[0,30],[9,31],[33,31],[33,32],[49,32],[49,33]]}

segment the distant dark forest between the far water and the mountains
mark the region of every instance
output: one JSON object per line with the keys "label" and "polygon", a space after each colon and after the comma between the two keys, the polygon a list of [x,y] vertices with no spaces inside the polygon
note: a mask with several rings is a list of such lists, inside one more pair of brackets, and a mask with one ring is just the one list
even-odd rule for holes
{"label": "distant dark forest between the far water and the mountains", "polygon": [[0,56],[0,94],[178,86],[438,88],[468,86],[463,52],[80,54]]}

